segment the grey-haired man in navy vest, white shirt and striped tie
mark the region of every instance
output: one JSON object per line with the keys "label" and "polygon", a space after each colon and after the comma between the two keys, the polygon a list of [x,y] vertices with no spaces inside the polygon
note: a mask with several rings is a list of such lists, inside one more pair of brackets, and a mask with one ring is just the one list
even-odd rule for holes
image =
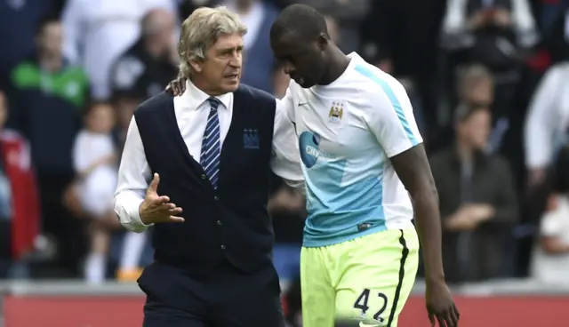
{"label": "grey-haired man in navy vest, white shirt and striped tie", "polygon": [[156,224],[139,280],[144,326],[283,325],[269,170],[292,187],[303,178],[291,121],[239,84],[245,33],[225,8],[192,13],[179,48],[186,92],[142,103],[129,127],[116,212],[132,231]]}

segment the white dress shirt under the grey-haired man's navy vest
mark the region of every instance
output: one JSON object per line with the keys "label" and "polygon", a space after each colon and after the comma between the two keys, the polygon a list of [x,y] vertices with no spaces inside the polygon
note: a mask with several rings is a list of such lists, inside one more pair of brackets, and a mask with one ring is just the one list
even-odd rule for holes
{"label": "white dress shirt under the grey-haired man's navy vest", "polygon": [[[188,81],[186,92],[174,98],[174,113],[181,136],[188,147],[189,154],[199,157],[204,138],[207,116],[210,113],[210,98]],[[220,143],[228,134],[233,116],[233,93],[216,97],[220,100],[218,116],[220,119]],[[287,114],[276,106],[275,129],[273,134],[273,156],[270,166],[275,174],[291,187],[304,193],[304,177],[301,170],[301,158],[294,132],[294,126]],[[126,134],[123,158],[118,171],[118,183],[115,194],[115,211],[121,224],[133,232],[142,232],[150,225],[140,220],[139,207],[151,180],[152,173],[148,167],[144,147],[136,120],[132,117]]]}

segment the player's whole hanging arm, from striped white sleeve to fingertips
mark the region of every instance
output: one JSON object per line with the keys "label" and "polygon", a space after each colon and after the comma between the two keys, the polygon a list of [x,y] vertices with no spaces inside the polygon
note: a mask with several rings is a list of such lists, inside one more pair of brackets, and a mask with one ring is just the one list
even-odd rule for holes
{"label": "player's whole hanging arm, from striped white sleeve to fingertips", "polygon": [[430,171],[411,101],[403,85],[389,81],[372,99],[367,121],[397,176],[413,200],[427,282],[429,319],[441,326],[456,326],[459,313],[445,283],[438,194]]}

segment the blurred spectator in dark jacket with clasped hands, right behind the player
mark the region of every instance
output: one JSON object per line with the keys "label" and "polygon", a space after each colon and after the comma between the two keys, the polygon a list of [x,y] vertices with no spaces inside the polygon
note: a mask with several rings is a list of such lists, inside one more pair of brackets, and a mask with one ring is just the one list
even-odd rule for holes
{"label": "blurred spectator in dark jacket with clasped hands, right behind the player", "polygon": [[509,166],[484,152],[491,121],[487,107],[461,106],[455,144],[430,162],[443,218],[445,275],[454,283],[500,276],[504,233],[517,219]]}

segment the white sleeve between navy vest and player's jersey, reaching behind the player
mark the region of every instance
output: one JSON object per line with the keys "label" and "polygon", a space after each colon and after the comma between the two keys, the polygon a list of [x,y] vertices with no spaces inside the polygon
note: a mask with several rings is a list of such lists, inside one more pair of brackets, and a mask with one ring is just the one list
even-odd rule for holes
{"label": "white sleeve between navy vest and player's jersey, reaching behind the player", "polygon": [[302,195],[305,194],[301,154],[293,124],[293,97],[290,88],[282,100],[276,99],[273,156],[270,165],[277,176]]}

